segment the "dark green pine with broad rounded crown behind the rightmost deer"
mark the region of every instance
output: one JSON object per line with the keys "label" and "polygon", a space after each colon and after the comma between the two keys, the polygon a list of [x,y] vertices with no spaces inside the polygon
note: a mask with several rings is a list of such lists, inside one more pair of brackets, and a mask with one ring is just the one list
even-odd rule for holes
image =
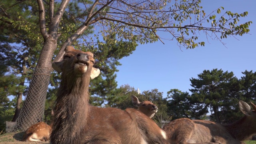
{"label": "dark green pine with broad rounded crown behind the rightmost deer", "polygon": [[238,80],[233,72],[223,72],[221,69],[204,70],[198,78],[190,79],[192,92],[190,102],[193,104],[192,117],[200,117],[213,113],[213,120],[220,123],[225,120],[227,112],[236,110],[234,103],[238,104]]}

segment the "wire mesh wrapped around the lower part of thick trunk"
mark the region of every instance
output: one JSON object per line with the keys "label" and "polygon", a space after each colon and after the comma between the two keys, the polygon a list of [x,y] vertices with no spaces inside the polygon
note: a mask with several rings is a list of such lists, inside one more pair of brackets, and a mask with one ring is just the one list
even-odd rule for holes
{"label": "wire mesh wrapped around the lower part of thick trunk", "polygon": [[50,73],[51,69],[36,68],[16,124],[8,128],[7,132],[25,131],[32,124],[43,120]]}

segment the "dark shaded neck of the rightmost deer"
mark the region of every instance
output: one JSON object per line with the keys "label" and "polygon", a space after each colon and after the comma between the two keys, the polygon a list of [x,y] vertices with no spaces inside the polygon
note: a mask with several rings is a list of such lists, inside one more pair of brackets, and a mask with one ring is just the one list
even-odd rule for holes
{"label": "dark shaded neck of the rightmost deer", "polygon": [[222,124],[236,140],[244,141],[253,134],[256,130],[254,126],[251,125],[250,120],[246,116],[242,117],[240,120],[232,124]]}

